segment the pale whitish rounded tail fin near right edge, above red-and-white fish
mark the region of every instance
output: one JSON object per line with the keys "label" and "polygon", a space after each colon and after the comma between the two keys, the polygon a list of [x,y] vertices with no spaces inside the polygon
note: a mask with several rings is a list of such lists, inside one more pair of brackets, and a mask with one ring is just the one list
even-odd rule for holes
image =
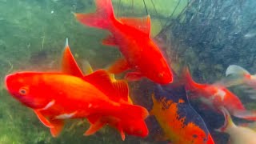
{"label": "pale whitish rounded tail fin near right edge, above red-and-white fish", "polygon": [[245,74],[250,74],[247,70],[242,68],[241,66],[237,65],[230,65],[226,69],[226,76],[228,75],[245,75]]}

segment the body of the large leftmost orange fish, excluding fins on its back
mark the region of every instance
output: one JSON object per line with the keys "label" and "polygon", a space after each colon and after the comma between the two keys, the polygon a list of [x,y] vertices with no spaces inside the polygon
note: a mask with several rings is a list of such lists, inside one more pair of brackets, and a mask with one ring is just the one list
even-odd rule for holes
{"label": "body of the large leftmost orange fish, excluding fins on its back", "polygon": [[[6,76],[6,88],[14,98],[34,109],[36,114],[49,118],[50,121],[86,118],[90,114],[105,114],[123,119],[129,118],[132,107],[141,109],[139,106],[111,101],[95,86],[81,78],[66,74],[35,72],[10,74]],[[138,115],[130,115],[130,118],[138,118],[139,114],[141,112]],[[50,125],[50,122],[42,117],[38,116],[38,118],[46,126]]]}

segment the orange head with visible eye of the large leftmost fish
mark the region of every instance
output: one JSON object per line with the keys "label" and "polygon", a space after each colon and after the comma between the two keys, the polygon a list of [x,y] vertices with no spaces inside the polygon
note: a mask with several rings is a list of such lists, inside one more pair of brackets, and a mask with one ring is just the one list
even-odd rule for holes
{"label": "orange head with visible eye of the large leftmost fish", "polygon": [[40,74],[20,72],[6,75],[6,90],[19,102],[32,109],[40,109],[50,102],[40,81]]}

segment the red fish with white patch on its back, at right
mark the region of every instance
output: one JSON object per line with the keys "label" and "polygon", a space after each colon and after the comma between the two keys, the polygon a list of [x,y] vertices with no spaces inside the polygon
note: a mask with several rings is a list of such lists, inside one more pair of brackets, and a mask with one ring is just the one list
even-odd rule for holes
{"label": "red fish with white patch on its back, at right", "polygon": [[221,83],[199,84],[191,78],[190,71],[186,68],[183,72],[186,90],[190,92],[190,98],[199,99],[206,107],[221,112],[219,108],[225,107],[230,114],[238,118],[256,120],[253,110],[246,110],[240,99]]}

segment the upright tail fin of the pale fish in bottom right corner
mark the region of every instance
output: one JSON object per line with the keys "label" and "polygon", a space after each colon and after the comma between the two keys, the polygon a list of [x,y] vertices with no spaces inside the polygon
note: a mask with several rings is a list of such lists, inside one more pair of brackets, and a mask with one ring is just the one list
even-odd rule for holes
{"label": "upright tail fin of the pale fish in bottom right corner", "polygon": [[222,127],[217,129],[217,131],[225,132],[228,127],[235,126],[235,125],[234,125],[234,122],[232,121],[230,113],[226,110],[226,108],[221,107],[221,110],[222,110],[222,113],[224,114],[225,122]]}

